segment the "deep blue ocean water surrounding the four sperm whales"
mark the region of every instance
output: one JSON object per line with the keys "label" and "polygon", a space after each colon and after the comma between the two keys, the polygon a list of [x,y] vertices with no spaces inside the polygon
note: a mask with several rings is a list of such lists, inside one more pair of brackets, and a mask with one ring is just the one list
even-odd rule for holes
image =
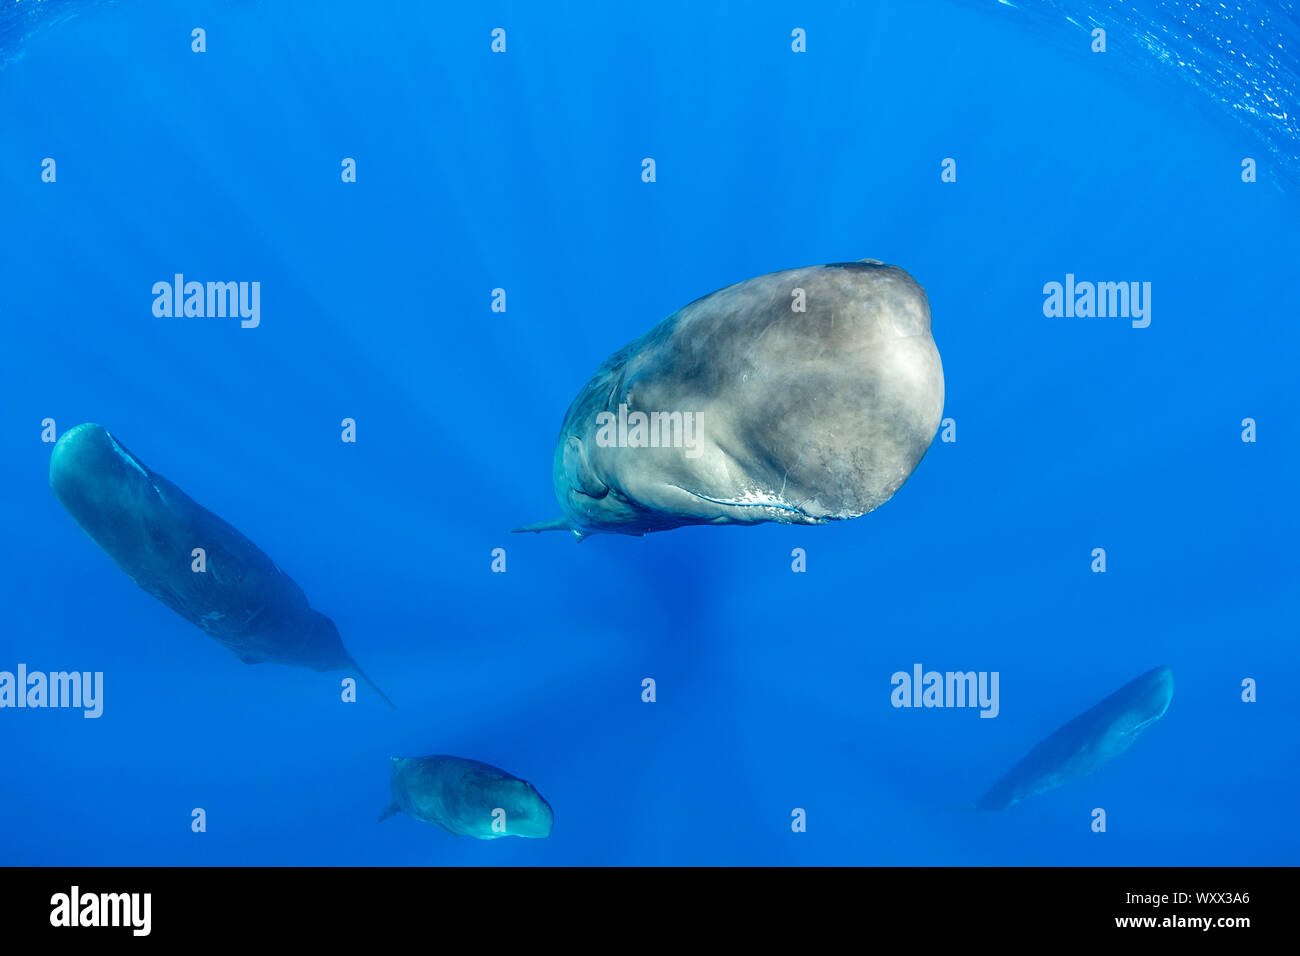
{"label": "deep blue ocean water surrounding the four sperm whales", "polygon": [[[105,682],[99,719],[0,710],[0,862],[1296,862],[1291,3],[0,9],[0,670]],[[608,354],[868,256],[926,286],[957,437],[879,511],[508,533],[558,514]],[[259,281],[259,326],[156,317],[176,273]],[[1150,282],[1150,325],[1046,317],[1067,273]],[[398,708],[135,588],[44,419],[248,535]],[[997,671],[998,717],[893,708],[915,663]],[[1128,753],[971,809],[1157,665]],[[429,753],[532,780],[554,834],[377,823]]]}

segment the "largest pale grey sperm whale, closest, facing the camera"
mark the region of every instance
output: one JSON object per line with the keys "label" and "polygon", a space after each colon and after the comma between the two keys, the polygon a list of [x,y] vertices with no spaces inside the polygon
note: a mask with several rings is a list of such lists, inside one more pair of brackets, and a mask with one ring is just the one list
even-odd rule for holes
{"label": "largest pale grey sperm whale, closest, facing the camera", "polygon": [[786,269],[680,308],[569,406],[563,516],[516,531],[645,535],[824,524],[887,502],[939,429],[924,289],[874,259]]}

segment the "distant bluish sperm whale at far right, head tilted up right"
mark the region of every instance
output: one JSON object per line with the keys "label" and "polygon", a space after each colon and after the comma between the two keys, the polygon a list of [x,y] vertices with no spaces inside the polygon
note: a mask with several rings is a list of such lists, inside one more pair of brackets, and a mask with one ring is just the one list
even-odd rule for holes
{"label": "distant bluish sperm whale at far right, head tilted up right", "polygon": [[1039,741],[976,808],[1002,810],[1026,797],[1087,777],[1134,745],[1138,735],[1169,710],[1174,675],[1156,667]]}

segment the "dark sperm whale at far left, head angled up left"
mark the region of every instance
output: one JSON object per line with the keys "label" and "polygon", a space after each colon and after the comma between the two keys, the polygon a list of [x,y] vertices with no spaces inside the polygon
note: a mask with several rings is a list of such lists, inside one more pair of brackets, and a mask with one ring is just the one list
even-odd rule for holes
{"label": "dark sperm whale at far left, head angled up left", "polygon": [[[334,622],[276,562],[103,427],[64,433],[49,458],[49,486],[131,580],[244,663],[352,670],[393,705],[356,666]],[[202,570],[195,549],[203,549]]]}

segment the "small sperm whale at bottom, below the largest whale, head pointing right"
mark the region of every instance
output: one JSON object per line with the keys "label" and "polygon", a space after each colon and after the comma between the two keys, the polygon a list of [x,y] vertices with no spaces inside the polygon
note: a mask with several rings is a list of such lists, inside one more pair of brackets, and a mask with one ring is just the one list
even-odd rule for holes
{"label": "small sperm whale at bottom, below the largest whale, head pointing right", "polygon": [[452,836],[551,835],[555,817],[528,780],[464,757],[394,757],[393,800],[380,819],[406,813]]}

